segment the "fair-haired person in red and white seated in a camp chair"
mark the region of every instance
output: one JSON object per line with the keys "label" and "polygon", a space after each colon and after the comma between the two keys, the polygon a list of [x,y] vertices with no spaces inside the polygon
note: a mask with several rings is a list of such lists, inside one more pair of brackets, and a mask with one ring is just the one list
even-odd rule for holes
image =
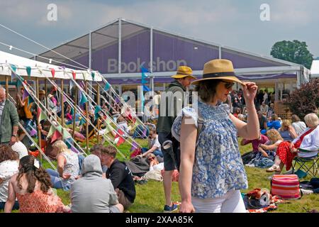
{"label": "fair-haired person in red and white seated in a camp chair", "polygon": [[[267,169],[267,172],[276,171],[277,174],[281,172],[284,165],[286,165],[286,170],[290,170],[293,158],[296,157],[298,153],[298,148],[303,150],[308,150],[307,154],[300,153],[299,157],[303,155],[317,155],[319,149],[319,118],[316,114],[307,114],[305,116],[305,122],[308,126],[301,135],[295,138],[293,141],[284,141],[279,144],[276,152],[276,158],[274,165]],[[303,155],[302,155],[303,154]]]}

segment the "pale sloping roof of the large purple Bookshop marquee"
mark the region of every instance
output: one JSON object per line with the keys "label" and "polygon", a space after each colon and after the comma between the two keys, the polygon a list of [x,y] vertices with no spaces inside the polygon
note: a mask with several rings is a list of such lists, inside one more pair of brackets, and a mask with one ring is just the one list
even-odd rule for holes
{"label": "pale sloping roof of the large purple Bookshop marquee", "polygon": [[[247,52],[243,50],[237,50],[235,48],[230,48],[228,46],[212,43],[205,40],[200,40],[197,38],[189,37],[186,35],[181,35],[179,33],[173,33],[170,31],[165,31],[159,28],[153,28],[152,26],[147,26],[142,23],[137,23],[134,21],[126,20],[123,18],[118,18],[115,21],[111,21],[104,26],[96,28],[94,31],[91,31],[91,52],[96,50],[101,50],[102,48],[106,48],[110,45],[114,45],[118,43],[118,35],[119,35],[119,21],[121,21],[121,40],[125,40],[133,37],[134,35],[138,35],[141,33],[145,33],[146,31],[150,31],[152,29],[153,32],[159,32],[164,35],[169,35],[176,38],[182,38],[188,40],[190,42],[194,42],[198,45],[206,45],[211,48],[218,50],[219,48],[223,49],[223,52],[226,52],[230,55],[240,55],[242,57],[249,57],[252,60],[259,60],[262,62],[267,62],[268,64],[272,64],[273,66],[299,66],[293,62],[287,62],[284,60],[276,59],[272,56],[258,55],[252,52]],[[89,35],[90,33],[86,33],[85,35],[81,35],[78,38],[74,38],[69,40],[61,45],[53,48],[55,52],[59,52],[61,55],[69,57],[72,60],[80,59],[81,57],[88,56],[89,53]],[[77,63],[69,62],[66,58],[62,58],[61,55],[57,55],[55,52],[46,51],[40,53],[40,56],[51,58],[53,60],[58,60],[60,62],[68,62],[72,65],[77,65]],[[88,57],[87,57],[88,58]],[[40,60],[40,58],[39,58]],[[83,67],[83,65],[88,66],[88,61],[85,63],[82,62],[82,65],[77,65],[79,67]],[[101,71],[100,71],[101,72]],[[105,72],[101,72],[105,73]]]}

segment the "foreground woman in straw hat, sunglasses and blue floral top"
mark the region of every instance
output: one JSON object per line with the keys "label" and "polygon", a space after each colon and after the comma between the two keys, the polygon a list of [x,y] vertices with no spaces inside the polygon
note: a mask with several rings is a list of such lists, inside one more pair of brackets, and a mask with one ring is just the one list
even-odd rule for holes
{"label": "foreground woman in straw hat, sunglasses and blue floral top", "polygon": [[[247,123],[230,114],[227,99],[238,82],[248,110]],[[181,212],[246,212],[240,189],[247,189],[237,135],[258,138],[259,121],[254,108],[257,86],[235,77],[230,60],[211,60],[204,65],[203,79],[197,79],[198,113],[203,128],[197,135],[197,110],[185,107],[176,118],[172,134],[181,144],[179,191]],[[196,152],[195,152],[196,151]]]}

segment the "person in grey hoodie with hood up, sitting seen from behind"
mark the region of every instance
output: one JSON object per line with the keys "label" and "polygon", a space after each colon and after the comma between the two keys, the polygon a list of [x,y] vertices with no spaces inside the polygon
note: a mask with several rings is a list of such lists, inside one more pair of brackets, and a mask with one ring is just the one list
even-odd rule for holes
{"label": "person in grey hoodie with hood up, sitting seen from behind", "polygon": [[82,164],[82,176],[71,186],[73,213],[122,213],[110,179],[102,177],[101,161],[88,155]]}

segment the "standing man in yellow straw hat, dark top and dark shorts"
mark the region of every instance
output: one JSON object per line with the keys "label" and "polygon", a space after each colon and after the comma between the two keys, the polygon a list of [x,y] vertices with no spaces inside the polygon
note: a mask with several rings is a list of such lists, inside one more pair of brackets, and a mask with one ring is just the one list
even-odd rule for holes
{"label": "standing man in yellow straw hat, dark top and dark shorts", "polygon": [[[184,92],[186,92],[186,88],[191,84],[191,79],[196,79],[192,73],[193,70],[190,67],[179,66],[177,74],[172,76],[175,79],[174,82],[169,84],[165,92],[162,92],[161,104],[159,105],[157,133],[164,155],[164,212],[177,210],[177,205],[172,204],[171,201],[171,190],[173,172],[179,168],[179,143],[172,137],[171,129],[174,119],[179,114],[177,106],[184,106]],[[174,99],[174,96],[177,96],[177,99]],[[172,104],[174,104],[173,108],[171,107]]]}

